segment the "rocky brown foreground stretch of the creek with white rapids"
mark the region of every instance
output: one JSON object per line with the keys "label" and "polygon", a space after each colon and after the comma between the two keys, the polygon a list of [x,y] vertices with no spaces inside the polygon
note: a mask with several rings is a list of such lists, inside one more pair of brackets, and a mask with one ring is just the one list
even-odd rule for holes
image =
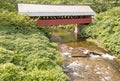
{"label": "rocky brown foreground stretch of the creek with white rapids", "polygon": [[66,58],[64,72],[71,81],[119,81],[119,69],[115,67],[115,56],[108,53],[72,48],[60,45],[61,55]]}

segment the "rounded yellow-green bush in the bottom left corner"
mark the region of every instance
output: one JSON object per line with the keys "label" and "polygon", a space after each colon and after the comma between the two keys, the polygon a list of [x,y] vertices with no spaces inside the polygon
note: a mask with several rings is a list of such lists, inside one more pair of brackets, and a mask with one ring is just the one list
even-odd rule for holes
{"label": "rounded yellow-green bush in the bottom left corner", "polygon": [[0,64],[0,81],[22,81],[24,72],[12,63]]}

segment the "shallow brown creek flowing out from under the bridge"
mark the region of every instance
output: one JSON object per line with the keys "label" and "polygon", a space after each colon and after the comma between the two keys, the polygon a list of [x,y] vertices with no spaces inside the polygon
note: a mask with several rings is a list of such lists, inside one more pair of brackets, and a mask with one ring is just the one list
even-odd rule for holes
{"label": "shallow brown creek flowing out from under the bridge", "polygon": [[95,43],[80,38],[75,40],[70,32],[53,32],[51,40],[58,43],[58,49],[65,63],[64,72],[70,81],[120,81],[117,59],[110,52]]}

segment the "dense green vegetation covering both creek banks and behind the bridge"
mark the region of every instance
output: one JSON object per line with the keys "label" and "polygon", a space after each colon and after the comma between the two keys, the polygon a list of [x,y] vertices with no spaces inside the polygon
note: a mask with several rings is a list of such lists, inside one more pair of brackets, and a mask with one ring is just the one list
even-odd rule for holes
{"label": "dense green vegetation covering both creek banks and behind the bridge", "polygon": [[17,3],[90,5],[97,15],[83,36],[120,56],[120,0],[0,0],[0,81],[69,81],[49,30],[18,15]]}

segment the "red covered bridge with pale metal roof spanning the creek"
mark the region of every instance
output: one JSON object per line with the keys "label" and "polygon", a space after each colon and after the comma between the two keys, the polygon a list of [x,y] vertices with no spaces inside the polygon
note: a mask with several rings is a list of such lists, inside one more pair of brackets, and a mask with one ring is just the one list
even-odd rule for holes
{"label": "red covered bridge with pale metal roof spanning the creek", "polygon": [[18,4],[18,13],[38,17],[38,26],[89,24],[95,12],[89,6]]}

